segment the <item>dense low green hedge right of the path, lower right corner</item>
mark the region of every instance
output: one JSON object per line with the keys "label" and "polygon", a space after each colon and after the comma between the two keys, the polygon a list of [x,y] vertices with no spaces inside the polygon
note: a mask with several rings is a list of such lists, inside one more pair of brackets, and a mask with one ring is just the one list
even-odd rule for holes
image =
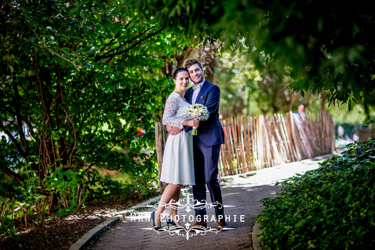
{"label": "dense low green hedge right of the path, lower right corner", "polygon": [[374,249],[375,138],[347,148],[261,200],[263,249]]}

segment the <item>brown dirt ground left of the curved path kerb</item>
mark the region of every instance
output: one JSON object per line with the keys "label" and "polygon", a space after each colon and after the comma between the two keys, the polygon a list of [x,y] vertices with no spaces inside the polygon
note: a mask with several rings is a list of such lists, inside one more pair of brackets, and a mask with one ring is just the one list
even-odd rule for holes
{"label": "brown dirt ground left of the curved path kerb", "polygon": [[86,211],[83,208],[69,216],[51,216],[40,230],[25,228],[18,233],[19,240],[12,243],[0,242],[0,249],[53,250],[69,249],[86,232],[98,226],[114,214],[139,204],[151,196],[139,199],[108,199],[90,201]]}

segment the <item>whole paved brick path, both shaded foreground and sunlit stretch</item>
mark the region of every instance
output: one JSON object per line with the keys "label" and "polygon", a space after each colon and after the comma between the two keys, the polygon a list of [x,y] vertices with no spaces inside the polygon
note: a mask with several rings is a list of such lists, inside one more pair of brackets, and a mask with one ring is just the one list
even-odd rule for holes
{"label": "whole paved brick path, both shaded foreground and sunlit stretch", "polygon": [[[258,210],[262,207],[260,199],[275,196],[280,187],[274,186],[276,181],[285,180],[296,173],[302,174],[302,172],[315,169],[318,167],[318,162],[321,161],[303,160],[302,162],[287,163],[255,171],[255,175],[247,178],[234,176],[232,180],[221,183],[223,204],[233,206],[224,208],[226,216],[230,216],[229,228],[233,229],[217,233],[207,232],[205,235],[192,235],[188,240],[182,235],[170,235],[168,232],[158,234],[146,229],[152,228],[152,221],[148,223],[148,217],[155,210],[148,208],[141,212],[143,216],[139,216],[143,222],[138,219],[131,221],[130,217],[124,218],[123,221],[108,230],[93,249],[248,249],[250,245],[248,234],[252,231]],[[209,197],[207,193],[208,203],[210,203]],[[187,202],[181,201],[181,204],[184,205]],[[165,213],[169,213],[169,209],[166,209]],[[178,214],[186,215],[184,222],[180,219],[181,224],[185,225],[189,222],[189,215],[192,215],[190,217],[193,218],[194,211],[187,213],[183,209],[179,210]],[[214,215],[214,208],[207,208],[207,214],[210,216],[210,220]],[[234,215],[236,215],[237,221],[234,221]],[[240,221],[241,215],[243,215],[242,222]],[[162,226],[166,226],[165,218]],[[194,222],[195,220],[189,222],[190,226]],[[216,229],[217,223],[216,221],[208,222],[208,226]]]}

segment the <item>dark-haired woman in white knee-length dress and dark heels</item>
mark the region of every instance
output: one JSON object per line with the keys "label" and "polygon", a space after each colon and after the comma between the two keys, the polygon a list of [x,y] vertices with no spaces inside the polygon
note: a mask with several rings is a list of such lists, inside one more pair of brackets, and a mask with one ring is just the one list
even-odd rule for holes
{"label": "dark-haired woman in white knee-length dress and dark heels", "polygon": [[[179,127],[181,130],[183,130],[183,126],[198,127],[198,120],[187,120],[188,118],[184,115],[185,109],[189,105],[183,97],[189,86],[187,70],[185,68],[176,69],[173,73],[173,81],[175,88],[166,100],[163,124]],[[191,130],[168,136],[163,154],[160,181],[164,181],[168,185],[160,198],[159,207],[151,213],[154,230],[162,229],[160,217],[165,205],[169,202],[176,204],[179,201],[181,187],[195,184]],[[181,226],[177,218],[177,205],[171,206],[166,220],[167,226],[169,227],[169,224]]]}

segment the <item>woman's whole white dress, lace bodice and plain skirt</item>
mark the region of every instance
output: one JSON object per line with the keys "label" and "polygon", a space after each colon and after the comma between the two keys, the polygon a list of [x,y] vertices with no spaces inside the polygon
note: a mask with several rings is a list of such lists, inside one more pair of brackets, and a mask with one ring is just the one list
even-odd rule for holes
{"label": "woman's whole white dress, lace bodice and plain skirt", "polygon": [[[184,114],[189,105],[179,94],[171,93],[166,100],[163,124],[183,129]],[[195,185],[193,162],[193,136],[191,130],[168,135],[165,143],[160,181],[165,183]]]}

